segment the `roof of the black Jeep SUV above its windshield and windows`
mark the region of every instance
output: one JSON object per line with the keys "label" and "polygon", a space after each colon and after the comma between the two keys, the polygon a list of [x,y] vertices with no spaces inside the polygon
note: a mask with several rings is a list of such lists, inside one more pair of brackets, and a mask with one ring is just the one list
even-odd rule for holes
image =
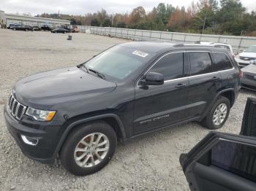
{"label": "roof of the black Jeep SUV above its windshield and windows", "polygon": [[144,52],[165,52],[170,50],[184,50],[184,49],[196,49],[196,50],[219,50],[217,47],[203,45],[203,44],[178,44],[171,42],[127,42],[118,44],[123,47],[130,47],[133,49],[142,50]]}

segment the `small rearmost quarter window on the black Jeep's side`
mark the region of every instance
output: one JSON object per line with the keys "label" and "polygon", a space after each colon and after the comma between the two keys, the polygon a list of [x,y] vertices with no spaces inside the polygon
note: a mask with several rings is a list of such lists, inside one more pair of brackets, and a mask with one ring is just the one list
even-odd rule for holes
{"label": "small rearmost quarter window on the black Jeep's side", "polygon": [[224,53],[213,52],[214,55],[214,71],[232,69],[232,63],[230,59]]}

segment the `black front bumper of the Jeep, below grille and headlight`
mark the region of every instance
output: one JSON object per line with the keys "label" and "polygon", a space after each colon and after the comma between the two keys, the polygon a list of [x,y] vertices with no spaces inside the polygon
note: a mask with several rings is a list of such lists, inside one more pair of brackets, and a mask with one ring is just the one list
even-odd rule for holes
{"label": "black front bumper of the Jeep, below grille and headlight", "polygon": [[[4,118],[7,129],[26,157],[37,160],[40,163],[54,162],[61,126],[37,122],[38,124],[33,127],[33,124],[22,122],[21,120],[18,121],[12,117],[7,106],[4,106]],[[38,142],[36,145],[30,145],[21,136],[37,139]]]}

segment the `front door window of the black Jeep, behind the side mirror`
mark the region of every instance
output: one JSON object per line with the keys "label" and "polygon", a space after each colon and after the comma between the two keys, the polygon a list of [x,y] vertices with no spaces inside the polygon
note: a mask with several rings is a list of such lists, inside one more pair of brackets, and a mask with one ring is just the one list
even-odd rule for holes
{"label": "front door window of the black Jeep, behind the side mirror", "polygon": [[163,74],[165,80],[183,77],[183,60],[182,52],[165,55],[150,71]]}

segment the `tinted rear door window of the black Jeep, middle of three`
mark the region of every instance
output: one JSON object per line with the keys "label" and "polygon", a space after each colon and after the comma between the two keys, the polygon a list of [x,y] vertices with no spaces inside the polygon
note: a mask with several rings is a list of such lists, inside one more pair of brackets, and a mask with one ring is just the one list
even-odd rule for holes
{"label": "tinted rear door window of the black Jeep, middle of three", "polygon": [[190,52],[190,63],[191,76],[212,71],[211,57],[208,52]]}

